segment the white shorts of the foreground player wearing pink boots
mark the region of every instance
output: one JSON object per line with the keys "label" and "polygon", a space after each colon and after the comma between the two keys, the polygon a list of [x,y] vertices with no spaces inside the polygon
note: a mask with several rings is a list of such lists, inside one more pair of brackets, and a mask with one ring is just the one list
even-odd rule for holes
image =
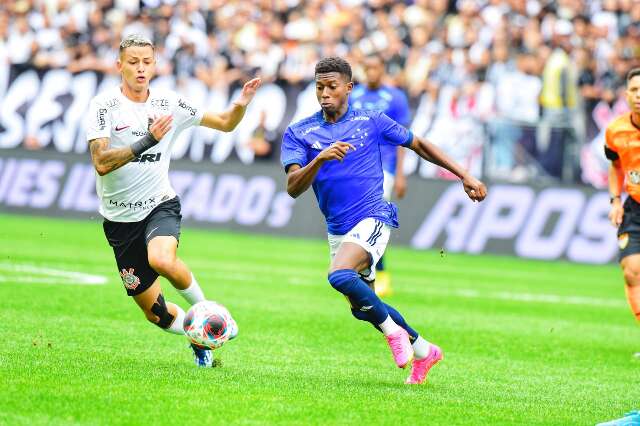
{"label": "white shorts of the foreground player wearing pink boots", "polygon": [[376,264],[387,248],[390,234],[391,227],[389,225],[373,218],[361,220],[351,231],[344,235],[327,234],[331,260],[335,257],[342,243],[355,243],[371,256],[369,269],[359,271],[360,275],[369,281],[373,281],[376,279]]}

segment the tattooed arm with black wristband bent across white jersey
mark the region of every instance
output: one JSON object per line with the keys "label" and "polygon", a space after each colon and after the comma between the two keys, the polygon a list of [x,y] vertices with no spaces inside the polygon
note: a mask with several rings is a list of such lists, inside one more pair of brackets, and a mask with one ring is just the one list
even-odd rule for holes
{"label": "tattooed arm with black wristband bent across white jersey", "polygon": [[100,176],[111,173],[114,170],[127,164],[129,161],[142,154],[147,149],[158,144],[158,141],[167,134],[171,129],[172,118],[165,115],[155,120],[149,133],[130,146],[122,148],[112,148],[109,138],[97,138],[89,141],[89,150],[91,152],[91,161],[96,172]]}

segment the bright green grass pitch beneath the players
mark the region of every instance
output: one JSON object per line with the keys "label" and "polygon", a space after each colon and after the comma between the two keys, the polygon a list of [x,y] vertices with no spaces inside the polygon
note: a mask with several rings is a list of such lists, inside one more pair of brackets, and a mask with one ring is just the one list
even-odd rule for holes
{"label": "bright green grass pitch beneath the players", "polygon": [[0,241],[2,425],[592,425],[640,408],[615,265],[392,247],[388,303],[445,352],[408,387],[326,282],[320,239],[183,229],[180,256],[240,326],[214,369],[126,297],[99,222],[2,215]]}

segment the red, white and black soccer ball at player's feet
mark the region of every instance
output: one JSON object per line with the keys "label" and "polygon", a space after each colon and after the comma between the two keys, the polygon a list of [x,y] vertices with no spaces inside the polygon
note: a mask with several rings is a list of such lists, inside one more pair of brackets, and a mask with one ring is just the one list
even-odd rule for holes
{"label": "red, white and black soccer ball at player's feet", "polygon": [[217,349],[234,336],[237,328],[229,310],[205,300],[193,305],[184,317],[184,334],[201,349]]}

